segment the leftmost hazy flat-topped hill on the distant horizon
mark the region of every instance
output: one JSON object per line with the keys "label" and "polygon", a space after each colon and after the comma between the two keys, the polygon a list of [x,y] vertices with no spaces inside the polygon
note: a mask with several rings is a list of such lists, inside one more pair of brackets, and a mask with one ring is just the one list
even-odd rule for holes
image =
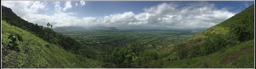
{"label": "leftmost hazy flat-topped hill on the distant horizon", "polygon": [[53,31],[81,31],[86,30],[84,27],[80,26],[65,26],[65,27],[56,27]]}

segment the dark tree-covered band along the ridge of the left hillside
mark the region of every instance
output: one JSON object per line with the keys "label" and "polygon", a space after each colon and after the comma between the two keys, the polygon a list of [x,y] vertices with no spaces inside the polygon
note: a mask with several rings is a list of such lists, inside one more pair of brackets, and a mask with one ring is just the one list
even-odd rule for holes
{"label": "dark tree-covered band along the ridge of the left hillside", "polygon": [[29,23],[28,21],[18,17],[10,8],[5,6],[2,6],[2,20],[13,26],[20,27],[25,31],[29,31],[30,33],[48,41],[49,43],[57,44],[57,46],[60,46],[73,54],[78,54],[82,57],[90,59],[96,59],[96,56],[100,54],[100,52],[89,48],[89,46],[80,44],[68,36],[54,32],[50,23],[47,24],[47,27]]}

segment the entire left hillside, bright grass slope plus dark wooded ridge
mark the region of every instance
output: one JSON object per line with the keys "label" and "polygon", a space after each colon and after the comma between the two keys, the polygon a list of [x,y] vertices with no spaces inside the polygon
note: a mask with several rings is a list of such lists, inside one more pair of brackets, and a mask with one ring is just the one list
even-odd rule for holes
{"label": "entire left hillside, bright grass slope plus dark wooded ridge", "polygon": [[[7,8],[6,6],[2,6],[2,67],[3,68],[38,68],[38,66],[34,67],[34,65],[37,65],[37,63],[39,67],[41,65],[40,68],[42,67],[46,67],[46,68],[98,67],[99,64],[96,65],[96,63],[99,63],[98,60],[93,60],[93,59],[97,59],[97,55],[100,54],[99,51],[94,50],[89,46],[82,45],[76,40],[68,36],[64,36],[62,34],[56,33],[52,31],[52,25],[50,25],[49,23],[47,25],[48,27],[42,27],[40,25],[37,25],[36,23],[30,23],[28,21],[25,21],[24,19],[18,17],[14,12],[12,12],[10,8]],[[12,31],[16,31],[16,33],[13,33]],[[26,31],[26,32],[24,33],[23,31]],[[26,34],[30,34],[32,36],[26,35]],[[15,38],[11,38],[12,36],[14,36]],[[36,38],[37,40],[34,38]],[[21,39],[23,39],[23,42],[19,43],[19,41],[22,41]],[[31,46],[32,48],[31,49],[32,51],[29,53],[27,51],[30,50],[30,47],[27,47],[27,46]],[[40,48],[41,46],[43,47],[46,46],[46,48]],[[34,48],[34,47],[37,47],[37,48]],[[47,49],[52,47],[53,49]],[[34,50],[38,50],[38,52],[34,52]],[[24,51],[27,53],[24,53]],[[19,59],[22,57],[21,56],[18,57],[18,56],[22,54],[26,56],[25,57],[26,59],[22,59],[22,60]],[[63,55],[63,59],[60,59],[62,58],[62,55]],[[13,57],[13,56],[16,56],[16,57]],[[64,59],[64,57],[66,59]],[[33,60],[30,60],[32,58]],[[73,61],[73,60],[76,60],[76,61]],[[17,62],[17,61],[20,61],[20,62]],[[40,63],[38,61],[40,61]],[[76,67],[74,66],[72,67],[70,65],[73,65],[73,64],[76,65],[77,63],[75,64],[70,62],[78,62],[79,65]],[[18,63],[22,63],[23,66],[18,65]],[[87,65],[84,65],[84,64],[87,64]],[[95,65],[90,65],[90,64],[95,64]],[[27,65],[27,66],[24,66],[24,65]]]}

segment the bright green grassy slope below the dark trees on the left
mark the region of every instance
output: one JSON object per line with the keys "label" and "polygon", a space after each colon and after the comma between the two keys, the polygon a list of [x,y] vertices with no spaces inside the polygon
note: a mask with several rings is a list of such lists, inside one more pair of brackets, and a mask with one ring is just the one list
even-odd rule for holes
{"label": "bright green grassy slope below the dark trees on the left", "polygon": [[[23,37],[23,42],[18,41],[20,52],[7,47],[10,34]],[[2,21],[2,68],[99,68],[99,63],[92,59],[82,62],[75,54]]]}

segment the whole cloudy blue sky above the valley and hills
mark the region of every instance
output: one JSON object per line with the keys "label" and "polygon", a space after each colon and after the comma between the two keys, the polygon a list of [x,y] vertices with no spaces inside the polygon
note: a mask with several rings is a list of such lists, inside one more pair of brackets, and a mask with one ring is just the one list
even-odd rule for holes
{"label": "whole cloudy blue sky above the valley and hills", "polygon": [[254,1],[3,1],[22,19],[46,26],[120,25],[208,28]]}

